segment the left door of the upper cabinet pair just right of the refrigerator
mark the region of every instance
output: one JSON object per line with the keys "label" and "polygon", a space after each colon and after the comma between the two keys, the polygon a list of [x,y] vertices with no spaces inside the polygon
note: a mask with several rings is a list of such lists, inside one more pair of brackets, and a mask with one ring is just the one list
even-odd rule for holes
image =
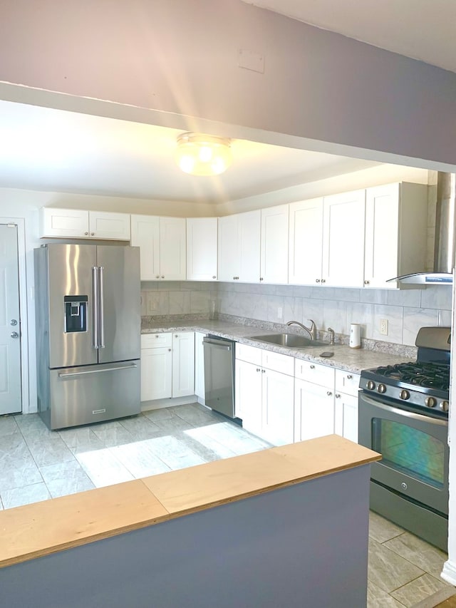
{"label": "left door of the upper cabinet pair just right of the refrigerator", "polygon": [[160,279],[160,218],[155,215],[131,216],[131,241],[140,247],[141,281]]}

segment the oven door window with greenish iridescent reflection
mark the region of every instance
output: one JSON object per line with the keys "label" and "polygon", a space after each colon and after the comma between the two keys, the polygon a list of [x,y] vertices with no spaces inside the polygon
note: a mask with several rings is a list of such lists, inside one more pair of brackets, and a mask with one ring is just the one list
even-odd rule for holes
{"label": "oven door window with greenish iridescent reflection", "polygon": [[372,418],[372,431],[372,448],[382,454],[383,464],[434,488],[443,488],[445,445],[442,441],[385,418]]}

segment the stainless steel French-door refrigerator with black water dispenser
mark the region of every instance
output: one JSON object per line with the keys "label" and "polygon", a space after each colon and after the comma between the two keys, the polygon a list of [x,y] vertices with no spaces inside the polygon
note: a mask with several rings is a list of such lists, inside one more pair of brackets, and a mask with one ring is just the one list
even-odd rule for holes
{"label": "stainless steel French-door refrigerator with black water dispenser", "polygon": [[51,428],[140,413],[139,247],[34,250],[38,412]]}

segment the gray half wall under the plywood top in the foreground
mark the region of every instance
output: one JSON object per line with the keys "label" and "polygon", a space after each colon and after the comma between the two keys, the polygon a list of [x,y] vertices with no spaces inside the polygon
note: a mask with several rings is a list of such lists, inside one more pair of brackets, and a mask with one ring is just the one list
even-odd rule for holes
{"label": "gray half wall under the plywood top in the foreground", "polygon": [[366,608],[370,466],[0,569],[2,608]]}

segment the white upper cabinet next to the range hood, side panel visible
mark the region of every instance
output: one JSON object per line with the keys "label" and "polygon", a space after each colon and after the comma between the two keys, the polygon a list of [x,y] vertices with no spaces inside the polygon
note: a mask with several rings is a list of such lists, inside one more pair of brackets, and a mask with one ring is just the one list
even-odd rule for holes
{"label": "white upper cabinet next to the range hood, side panel visible", "polygon": [[365,287],[393,288],[402,274],[423,272],[427,242],[427,186],[408,182],[366,190]]}

